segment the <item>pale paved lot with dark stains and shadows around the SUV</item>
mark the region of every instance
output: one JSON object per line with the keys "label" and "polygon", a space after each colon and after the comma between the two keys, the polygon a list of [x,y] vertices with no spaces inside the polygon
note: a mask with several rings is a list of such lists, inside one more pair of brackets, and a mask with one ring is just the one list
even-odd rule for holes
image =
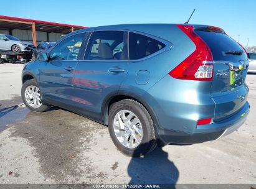
{"label": "pale paved lot with dark stains and shadows around the SUV", "polygon": [[0,183],[256,183],[256,75],[247,77],[251,111],[239,131],[130,158],[106,126],[59,108],[29,111],[22,67],[0,65]]}

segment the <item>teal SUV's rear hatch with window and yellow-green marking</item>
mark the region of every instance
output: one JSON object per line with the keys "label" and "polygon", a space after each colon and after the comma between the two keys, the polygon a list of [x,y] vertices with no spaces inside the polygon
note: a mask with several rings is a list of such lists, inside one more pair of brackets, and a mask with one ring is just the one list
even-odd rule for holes
{"label": "teal SUV's rear hatch with window and yellow-green marking", "polygon": [[199,26],[194,32],[211,48],[214,60],[211,96],[216,103],[214,121],[223,121],[237,113],[247,101],[247,53],[217,27]]}

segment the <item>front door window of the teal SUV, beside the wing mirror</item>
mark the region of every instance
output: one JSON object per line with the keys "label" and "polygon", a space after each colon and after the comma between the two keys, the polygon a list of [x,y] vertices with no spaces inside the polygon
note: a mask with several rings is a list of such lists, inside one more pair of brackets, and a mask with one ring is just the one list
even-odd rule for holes
{"label": "front door window of the teal SUV, beside the wing mirror", "polygon": [[49,58],[52,60],[77,60],[84,39],[85,34],[77,34],[62,40],[49,52]]}

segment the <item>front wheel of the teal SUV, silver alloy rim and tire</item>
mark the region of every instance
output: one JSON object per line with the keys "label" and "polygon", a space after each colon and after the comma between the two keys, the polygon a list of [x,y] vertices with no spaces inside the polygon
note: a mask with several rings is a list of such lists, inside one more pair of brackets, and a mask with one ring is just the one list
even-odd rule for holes
{"label": "front wheel of the teal SUV, silver alloy rim and tire", "polygon": [[[30,89],[31,89],[31,93],[26,91],[26,90],[30,91]],[[32,94],[33,92],[34,94]],[[39,89],[39,86],[37,85],[36,80],[27,80],[25,83],[23,83],[21,88],[21,97],[22,97],[22,101],[27,106],[27,108],[31,109],[32,111],[44,112],[50,108],[50,106],[47,106],[42,103],[40,99],[40,89]],[[35,99],[35,100],[31,100],[31,99]]]}

